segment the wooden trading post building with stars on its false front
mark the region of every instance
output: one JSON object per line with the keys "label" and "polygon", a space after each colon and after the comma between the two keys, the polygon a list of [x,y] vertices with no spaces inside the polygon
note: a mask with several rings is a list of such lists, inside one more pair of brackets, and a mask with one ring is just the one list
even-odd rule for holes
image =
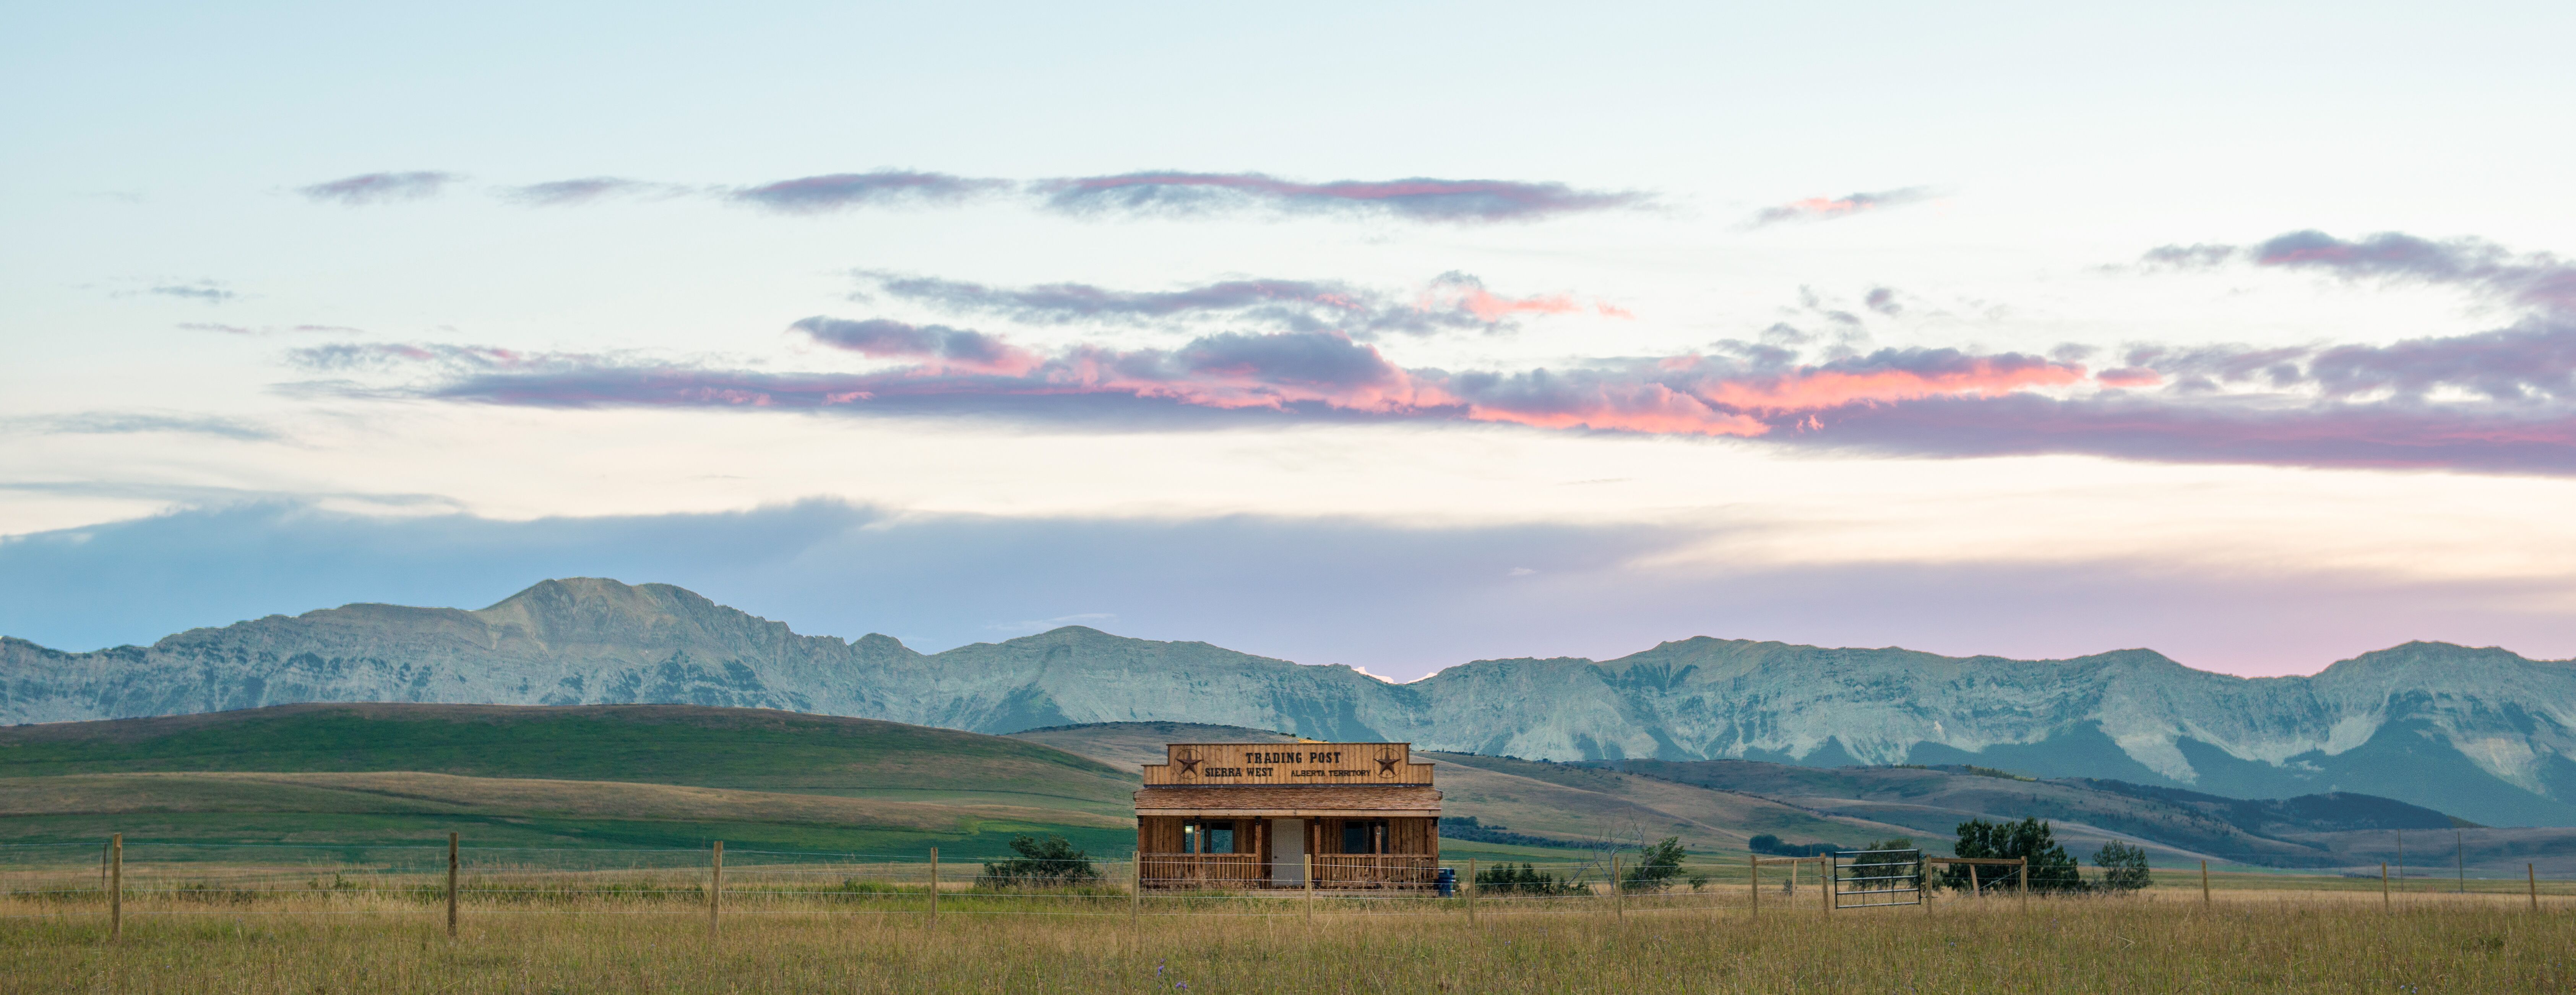
{"label": "wooden trading post building with stars on its false front", "polygon": [[[1311,861],[1309,861],[1311,858]],[[1170,742],[1136,791],[1141,887],[1427,889],[1440,791],[1412,742]]]}

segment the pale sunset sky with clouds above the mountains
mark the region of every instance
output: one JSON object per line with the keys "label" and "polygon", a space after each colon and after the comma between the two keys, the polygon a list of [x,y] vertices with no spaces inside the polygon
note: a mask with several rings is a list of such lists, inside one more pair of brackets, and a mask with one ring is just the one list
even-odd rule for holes
{"label": "pale sunset sky with clouds above the mountains", "polygon": [[2576,8],[15,5],[0,634],[2576,657]]}

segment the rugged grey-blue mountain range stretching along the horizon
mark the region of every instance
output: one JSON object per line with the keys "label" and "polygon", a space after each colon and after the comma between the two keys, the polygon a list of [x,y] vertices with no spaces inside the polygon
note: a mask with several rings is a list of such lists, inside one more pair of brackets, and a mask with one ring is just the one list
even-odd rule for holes
{"label": "rugged grey-blue mountain range stretching along the horizon", "polygon": [[2231,678],[2151,650],[2007,660],[1695,637],[1388,683],[1084,626],[922,655],[592,577],[479,611],[358,603],[149,647],[0,637],[0,722],[291,701],[667,701],[971,732],[1213,722],[1530,760],[1973,763],[2249,799],[2362,791],[2486,825],[2576,825],[2576,662],[2439,642],[2313,678]]}

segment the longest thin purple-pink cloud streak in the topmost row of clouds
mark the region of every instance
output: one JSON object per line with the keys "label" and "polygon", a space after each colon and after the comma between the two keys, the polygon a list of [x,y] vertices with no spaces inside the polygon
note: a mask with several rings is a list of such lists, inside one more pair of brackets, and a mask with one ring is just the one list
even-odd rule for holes
{"label": "longest thin purple-pink cloud streak in the topmost row of clouds", "polygon": [[1121,173],[1033,183],[1064,214],[1383,214],[1414,222],[1525,222],[1643,206],[1643,193],[1579,191],[1520,180],[1332,180],[1293,183],[1265,173]]}

